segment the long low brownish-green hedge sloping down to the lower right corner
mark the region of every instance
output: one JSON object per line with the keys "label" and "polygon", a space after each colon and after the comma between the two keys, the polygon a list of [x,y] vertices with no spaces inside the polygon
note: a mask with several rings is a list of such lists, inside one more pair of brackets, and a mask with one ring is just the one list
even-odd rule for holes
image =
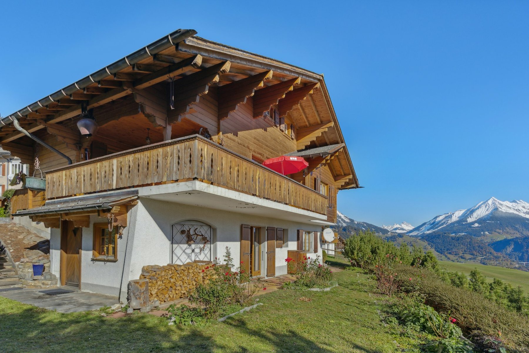
{"label": "long low brownish-green hedge sloping down to the lower right corner", "polygon": [[529,350],[529,320],[525,316],[487,300],[478,292],[445,283],[431,270],[399,266],[397,271],[412,278],[402,282],[406,292],[417,292],[435,310],[450,312],[464,332],[490,337],[502,332],[501,341],[506,346]]}

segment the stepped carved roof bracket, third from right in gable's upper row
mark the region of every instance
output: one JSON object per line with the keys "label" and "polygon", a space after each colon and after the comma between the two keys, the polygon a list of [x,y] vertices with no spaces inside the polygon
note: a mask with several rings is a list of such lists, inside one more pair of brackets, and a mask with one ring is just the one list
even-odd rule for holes
{"label": "stepped carved roof bracket, third from right in gable's upper row", "polygon": [[226,119],[239,104],[246,103],[246,99],[254,95],[256,88],[263,87],[265,80],[272,78],[272,74],[272,70],[263,71],[218,88],[218,120]]}

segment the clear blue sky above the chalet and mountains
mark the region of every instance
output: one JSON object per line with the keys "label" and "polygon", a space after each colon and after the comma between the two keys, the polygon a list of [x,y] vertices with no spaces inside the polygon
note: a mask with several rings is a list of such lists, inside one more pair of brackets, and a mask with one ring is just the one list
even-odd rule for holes
{"label": "clear blue sky above the chalet and mountains", "polygon": [[222,4],[5,2],[0,113],[192,28],[325,74],[365,187],[339,193],[346,215],[418,225],[529,201],[529,2]]}

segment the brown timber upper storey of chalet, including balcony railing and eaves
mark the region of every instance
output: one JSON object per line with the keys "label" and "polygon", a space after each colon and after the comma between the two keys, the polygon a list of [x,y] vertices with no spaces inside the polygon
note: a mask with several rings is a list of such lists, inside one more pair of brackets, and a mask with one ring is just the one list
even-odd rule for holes
{"label": "brown timber upper storey of chalet, including balcony railing and eaves", "polygon": [[[129,66],[113,73],[111,65],[107,77],[88,76],[60,91],[71,91],[67,97],[53,99],[58,92],[10,116],[74,165],[10,124],[0,128],[0,144],[30,165],[39,157],[48,200],[197,179],[334,222],[336,193],[359,187],[345,146],[308,158],[306,170],[287,177],[259,165],[344,144],[323,77],[199,37],[171,44],[133,64],[131,55]],[[76,126],[83,105],[99,125],[90,138]],[[24,197],[17,207],[34,207]]]}

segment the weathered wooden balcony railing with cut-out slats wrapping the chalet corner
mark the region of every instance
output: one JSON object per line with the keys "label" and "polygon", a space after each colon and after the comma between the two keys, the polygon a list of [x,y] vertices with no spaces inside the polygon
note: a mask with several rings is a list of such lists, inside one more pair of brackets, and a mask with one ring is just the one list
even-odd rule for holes
{"label": "weathered wooden balcony railing with cut-out slats wrapping the chalet corner", "polygon": [[199,180],[325,215],[327,198],[199,135],[47,171],[48,199]]}

